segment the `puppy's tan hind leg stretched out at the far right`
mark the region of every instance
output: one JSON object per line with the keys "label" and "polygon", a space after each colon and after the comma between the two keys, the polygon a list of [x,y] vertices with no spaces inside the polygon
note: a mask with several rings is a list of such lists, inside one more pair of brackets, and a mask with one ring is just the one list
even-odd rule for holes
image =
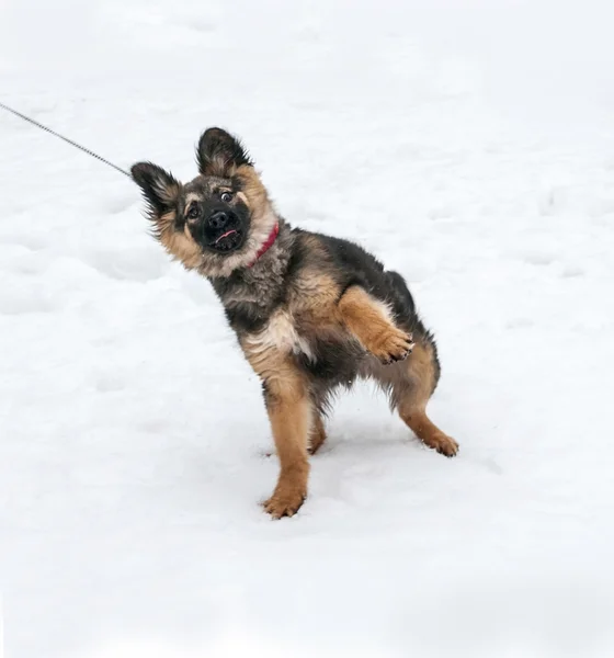
{"label": "puppy's tan hind leg stretched out at the far right", "polygon": [[408,360],[397,367],[405,370],[403,376],[395,382],[391,392],[399,416],[425,445],[453,457],[458,452],[458,444],[427,416],[427,402],[439,378],[434,345],[428,338],[419,339]]}

